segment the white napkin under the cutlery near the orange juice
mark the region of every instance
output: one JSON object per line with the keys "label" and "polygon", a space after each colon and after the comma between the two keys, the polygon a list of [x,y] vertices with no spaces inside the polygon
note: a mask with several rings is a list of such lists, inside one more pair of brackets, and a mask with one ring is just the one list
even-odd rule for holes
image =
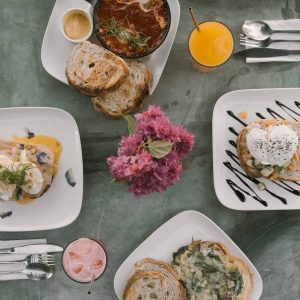
{"label": "white napkin under the cutlery near the orange juice", "polygon": [[[249,21],[245,21],[247,23]],[[273,30],[300,30],[300,19],[291,20],[267,20],[266,22]],[[281,42],[272,43],[267,48],[274,49],[288,49],[288,50],[300,50],[300,33],[273,33],[272,39],[288,39],[288,40],[299,40],[299,42]],[[289,61],[295,62],[300,61],[300,55],[287,55],[287,56],[276,56],[276,57],[263,57],[263,58],[246,58],[247,63],[258,63],[258,62],[272,62],[272,61]]]}

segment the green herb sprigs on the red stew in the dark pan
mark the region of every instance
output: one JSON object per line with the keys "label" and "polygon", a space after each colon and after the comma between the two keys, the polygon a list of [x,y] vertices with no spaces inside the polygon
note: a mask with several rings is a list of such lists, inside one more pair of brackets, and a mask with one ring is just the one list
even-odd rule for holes
{"label": "green herb sprigs on the red stew in the dark pan", "polygon": [[148,42],[151,39],[150,36],[145,35],[143,32],[132,32],[131,30],[125,28],[123,23],[117,22],[117,20],[112,17],[110,23],[102,23],[104,29],[106,29],[106,34],[113,36],[125,43],[127,43],[131,48],[145,48],[148,49]]}

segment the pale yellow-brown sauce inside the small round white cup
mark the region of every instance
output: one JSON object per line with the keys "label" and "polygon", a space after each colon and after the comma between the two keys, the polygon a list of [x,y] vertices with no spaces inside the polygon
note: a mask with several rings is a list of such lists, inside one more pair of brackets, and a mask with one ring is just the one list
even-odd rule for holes
{"label": "pale yellow-brown sauce inside the small round white cup", "polygon": [[91,24],[83,12],[74,10],[64,16],[63,27],[66,36],[72,40],[80,40],[88,35]]}

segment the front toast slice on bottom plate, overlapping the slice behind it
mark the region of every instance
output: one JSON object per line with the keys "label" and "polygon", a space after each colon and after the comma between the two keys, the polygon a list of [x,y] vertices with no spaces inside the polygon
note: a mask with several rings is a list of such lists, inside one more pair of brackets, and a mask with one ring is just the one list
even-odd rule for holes
{"label": "front toast slice on bottom plate, overlapping the slice behind it", "polygon": [[135,273],[127,283],[123,299],[168,299],[165,276],[160,272],[151,271],[141,271]]}

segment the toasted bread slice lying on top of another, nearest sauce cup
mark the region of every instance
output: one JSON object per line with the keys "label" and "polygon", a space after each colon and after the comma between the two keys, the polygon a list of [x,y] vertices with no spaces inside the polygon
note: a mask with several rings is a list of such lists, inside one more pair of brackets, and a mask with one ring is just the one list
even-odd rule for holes
{"label": "toasted bread slice lying on top of another, nearest sauce cup", "polygon": [[122,58],[88,41],[75,46],[66,66],[70,85],[89,96],[120,84],[128,74]]}

